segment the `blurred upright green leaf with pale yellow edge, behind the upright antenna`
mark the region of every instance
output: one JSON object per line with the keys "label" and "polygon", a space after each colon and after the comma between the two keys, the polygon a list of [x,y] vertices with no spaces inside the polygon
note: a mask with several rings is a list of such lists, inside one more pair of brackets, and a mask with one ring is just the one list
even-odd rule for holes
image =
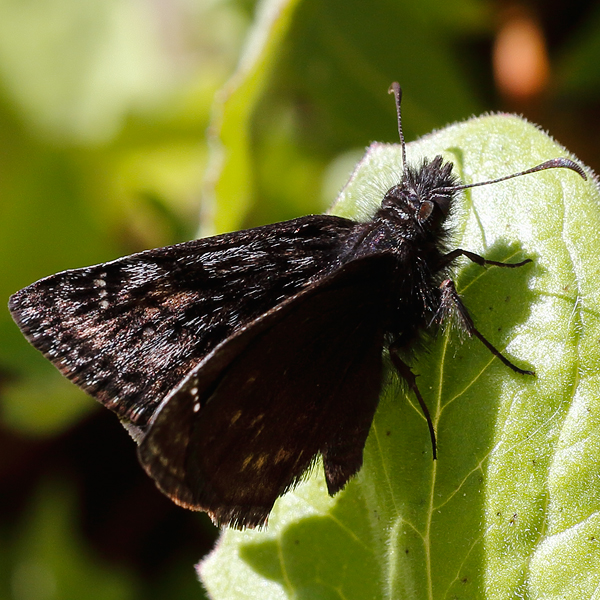
{"label": "blurred upright green leaf with pale yellow edge, behind the upright antenna", "polygon": [[[209,128],[203,233],[322,212],[342,150],[392,138],[401,77],[410,136],[481,110],[457,46],[487,28],[472,0],[263,0]],[[477,37],[477,39],[479,39]],[[410,93],[408,93],[410,91]],[[344,177],[347,172],[344,173]],[[336,192],[344,179],[336,181]]]}

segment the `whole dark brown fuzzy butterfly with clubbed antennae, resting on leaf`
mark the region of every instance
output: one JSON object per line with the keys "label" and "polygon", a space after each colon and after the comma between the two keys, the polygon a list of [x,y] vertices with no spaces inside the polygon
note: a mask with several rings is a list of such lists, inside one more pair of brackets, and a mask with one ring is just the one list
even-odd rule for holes
{"label": "whole dark brown fuzzy butterfly with clubbed antennae, resting on leaf", "polygon": [[312,215],[64,271],[15,293],[25,337],[117,414],[139,460],[177,504],[216,524],[266,524],[275,500],[322,457],[334,495],[362,465],[383,353],[435,431],[408,360],[452,312],[476,328],[451,279],[447,220],[464,189],[566,158],[461,184],[441,156],[406,161],[401,90],[392,84],[403,157],[399,183],[366,222]]}

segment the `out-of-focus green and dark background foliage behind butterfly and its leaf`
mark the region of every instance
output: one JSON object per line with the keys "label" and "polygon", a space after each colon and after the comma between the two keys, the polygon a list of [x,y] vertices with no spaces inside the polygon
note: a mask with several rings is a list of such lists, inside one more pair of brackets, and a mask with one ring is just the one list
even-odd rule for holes
{"label": "out-of-focus green and dark background foliage behind butterfly and its leaf", "polygon": [[[539,7],[556,76],[533,114],[595,166],[600,9]],[[0,1],[0,296],[198,231],[323,211],[370,141],[396,140],[393,80],[408,138],[502,108],[496,8]],[[122,483],[139,471],[133,444],[6,310],[0,340],[0,597],[201,595],[205,522]]]}

